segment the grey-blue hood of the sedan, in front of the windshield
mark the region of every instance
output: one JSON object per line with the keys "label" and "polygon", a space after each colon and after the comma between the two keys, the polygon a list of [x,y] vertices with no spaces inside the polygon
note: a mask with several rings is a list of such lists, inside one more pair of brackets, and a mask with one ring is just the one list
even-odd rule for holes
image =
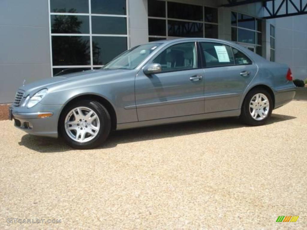
{"label": "grey-blue hood of the sedan, in front of the windshield", "polygon": [[36,82],[31,82],[26,84],[25,86],[20,87],[20,90],[25,91],[25,97],[27,95],[33,96],[33,94],[37,93],[41,89],[50,89],[52,87],[56,87],[62,85],[64,83],[72,82],[72,81],[84,81],[84,79],[91,79],[95,77],[109,77],[110,75],[122,74],[129,70],[107,70],[107,69],[99,69],[99,70],[89,70],[78,73],[61,75],[58,77],[52,77],[48,79],[39,80]]}

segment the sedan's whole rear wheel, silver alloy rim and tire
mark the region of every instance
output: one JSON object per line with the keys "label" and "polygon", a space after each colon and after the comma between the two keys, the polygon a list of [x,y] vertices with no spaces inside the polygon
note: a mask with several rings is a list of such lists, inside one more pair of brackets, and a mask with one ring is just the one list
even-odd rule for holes
{"label": "sedan's whole rear wheel, silver alloy rim and tire", "polygon": [[256,88],[246,95],[240,118],[247,125],[263,125],[270,118],[272,110],[273,100],[270,93]]}

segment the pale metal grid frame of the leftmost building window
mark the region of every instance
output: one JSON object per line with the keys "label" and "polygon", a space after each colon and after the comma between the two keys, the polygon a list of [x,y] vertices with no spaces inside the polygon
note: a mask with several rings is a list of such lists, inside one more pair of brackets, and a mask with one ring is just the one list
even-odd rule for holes
{"label": "pale metal grid frame of the leftmost building window", "polygon": [[[50,1],[48,0],[48,17],[49,17],[49,52],[50,52],[50,68],[51,68],[51,77],[53,77],[53,68],[91,68],[93,70],[97,67],[103,67],[103,65],[94,65],[93,64],[93,47],[92,47],[92,37],[93,36],[106,36],[106,37],[126,37],[127,38],[127,49],[130,48],[130,36],[129,36],[129,0],[126,0],[126,15],[122,14],[99,14],[91,13],[91,0],[88,0],[88,13],[54,13],[51,12]],[[51,33],[51,15],[70,15],[70,16],[88,16],[89,17],[89,33],[87,34],[75,34],[75,33]],[[100,16],[100,17],[126,17],[126,34],[93,34],[92,33],[92,24],[91,16]],[[52,36],[89,36],[90,37],[90,65],[63,65],[63,66],[54,66],[52,62]]]}

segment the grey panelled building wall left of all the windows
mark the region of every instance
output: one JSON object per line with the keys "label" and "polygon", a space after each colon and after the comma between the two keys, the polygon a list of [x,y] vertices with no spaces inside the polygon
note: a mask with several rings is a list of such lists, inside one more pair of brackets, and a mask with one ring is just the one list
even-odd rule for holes
{"label": "grey panelled building wall left of all the windows", "polygon": [[0,1],[0,103],[22,82],[51,77],[48,0]]}

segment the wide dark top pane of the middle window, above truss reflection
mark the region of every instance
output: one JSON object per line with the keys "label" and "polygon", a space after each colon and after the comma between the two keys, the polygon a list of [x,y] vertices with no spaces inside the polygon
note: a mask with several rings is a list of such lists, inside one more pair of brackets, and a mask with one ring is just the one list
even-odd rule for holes
{"label": "wide dark top pane of the middle window, above truss reflection", "polygon": [[167,16],[169,18],[203,21],[203,9],[196,5],[167,2]]}

